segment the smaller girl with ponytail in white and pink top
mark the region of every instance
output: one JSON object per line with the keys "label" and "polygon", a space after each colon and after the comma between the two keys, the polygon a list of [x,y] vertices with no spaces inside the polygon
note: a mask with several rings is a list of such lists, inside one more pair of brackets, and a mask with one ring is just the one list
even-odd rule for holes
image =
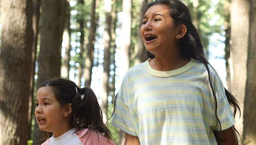
{"label": "smaller girl with ponytail in white and pink top", "polygon": [[43,145],[115,144],[91,88],[62,78],[48,80],[37,90],[35,104],[36,122],[45,133]]}

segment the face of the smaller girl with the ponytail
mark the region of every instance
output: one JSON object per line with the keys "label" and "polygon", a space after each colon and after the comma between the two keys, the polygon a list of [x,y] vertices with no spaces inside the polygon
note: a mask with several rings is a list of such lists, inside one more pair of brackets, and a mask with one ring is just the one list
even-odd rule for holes
{"label": "face of the smaller girl with the ponytail", "polygon": [[67,125],[65,110],[57,101],[53,90],[49,86],[41,87],[36,92],[35,117],[39,128],[54,135]]}

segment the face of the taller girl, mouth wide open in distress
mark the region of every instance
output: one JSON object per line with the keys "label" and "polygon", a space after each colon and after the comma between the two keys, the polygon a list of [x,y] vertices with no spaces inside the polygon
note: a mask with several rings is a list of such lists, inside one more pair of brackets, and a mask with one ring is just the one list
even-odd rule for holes
{"label": "face of the taller girl, mouth wide open in distress", "polygon": [[177,33],[166,6],[154,5],[147,10],[140,27],[140,35],[147,51],[153,54],[159,51],[162,54],[170,52],[170,48],[175,46]]}

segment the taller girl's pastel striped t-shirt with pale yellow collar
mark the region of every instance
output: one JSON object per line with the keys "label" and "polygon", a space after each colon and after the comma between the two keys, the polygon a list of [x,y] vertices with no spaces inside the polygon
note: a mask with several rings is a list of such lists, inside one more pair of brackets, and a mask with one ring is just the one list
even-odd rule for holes
{"label": "taller girl's pastel striped t-shirt with pale yellow collar", "polygon": [[[128,70],[112,124],[138,136],[141,145],[217,145],[220,130],[207,69],[195,59],[172,71],[156,71],[149,60]],[[221,129],[234,125],[223,84],[209,66]]]}

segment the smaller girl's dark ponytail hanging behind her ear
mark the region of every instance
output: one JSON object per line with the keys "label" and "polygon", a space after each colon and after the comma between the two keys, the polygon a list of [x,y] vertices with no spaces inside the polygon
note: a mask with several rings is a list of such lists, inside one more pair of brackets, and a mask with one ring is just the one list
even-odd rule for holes
{"label": "smaller girl's dark ponytail hanging behind her ear", "polygon": [[103,133],[108,140],[111,139],[111,133],[103,123],[102,111],[97,97],[91,88],[85,87],[78,90],[78,94],[73,98],[72,111],[72,123],[76,132],[83,128],[88,128],[88,132],[96,129]]}

